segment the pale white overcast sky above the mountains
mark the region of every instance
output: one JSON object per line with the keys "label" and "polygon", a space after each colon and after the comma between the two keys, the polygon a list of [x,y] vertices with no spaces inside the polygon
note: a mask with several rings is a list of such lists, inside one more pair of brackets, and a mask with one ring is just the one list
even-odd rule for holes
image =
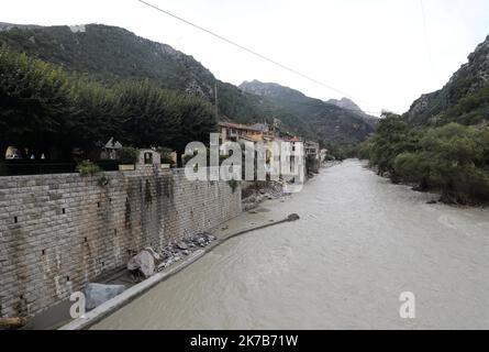
{"label": "pale white overcast sky above the mountains", "polygon": [[[346,92],[371,112],[403,112],[441,88],[489,34],[488,0],[146,1]],[[122,26],[192,55],[235,85],[258,79],[323,100],[342,96],[137,0],[15,0],[1,8],[0,22]]]}

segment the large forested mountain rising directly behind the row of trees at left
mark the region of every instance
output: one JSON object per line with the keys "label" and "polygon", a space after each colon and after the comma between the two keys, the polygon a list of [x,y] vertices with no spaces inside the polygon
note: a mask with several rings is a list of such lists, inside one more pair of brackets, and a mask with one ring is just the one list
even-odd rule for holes
{"label": "large forested mountain rising directly behind the row of trees at left", "polygon": [[[70,73],[90,75],[107,85],[122,79],[149,79],[162,88],[214,96],[214,76],[192,56],[169,45],[155,43],[114,26],[4,25],[0,43],[35,55],[46,62],[63,65]],[[224,116],[238,116],[255,121],[260,113],[254,108],[254,97],[236,87],[218,81],[220,110]]]}

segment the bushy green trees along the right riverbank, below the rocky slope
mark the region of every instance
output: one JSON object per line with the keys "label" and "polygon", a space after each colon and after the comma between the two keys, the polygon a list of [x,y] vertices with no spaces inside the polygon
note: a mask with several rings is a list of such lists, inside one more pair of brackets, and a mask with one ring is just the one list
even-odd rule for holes
{"label": "bushy green trees along the right riverbank, below the rocky slope", "polygon": [[489,201],[489,128],[454,122],[413,128],[388,114],[358,153],[380,175],[415,184],[420,190],[438,190],[446,202]]}

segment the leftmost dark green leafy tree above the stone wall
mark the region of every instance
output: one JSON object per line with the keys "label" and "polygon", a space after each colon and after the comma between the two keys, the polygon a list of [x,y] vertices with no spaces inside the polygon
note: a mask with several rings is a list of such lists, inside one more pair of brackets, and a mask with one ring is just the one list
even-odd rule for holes
{"label": "leftmost dark green leafy tree above the stone wall", "polygon": [[63,70],[7,47],[0,48],[0,147],[27,147],[36,154],[63,145],[73,114]]}

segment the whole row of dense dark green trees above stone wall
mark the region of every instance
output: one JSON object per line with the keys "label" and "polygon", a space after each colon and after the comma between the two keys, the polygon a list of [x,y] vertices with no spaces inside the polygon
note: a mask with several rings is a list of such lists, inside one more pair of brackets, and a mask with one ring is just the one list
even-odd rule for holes
{"label": "whole row of dense dark green trees above stone wall", "polygon": [[209,102],[148,81],[107,88],[58,66],[0,48],[0,151],[15,145],[36,158],[88,154],[111,136],[124,145],[182,152],[215,130]]}

